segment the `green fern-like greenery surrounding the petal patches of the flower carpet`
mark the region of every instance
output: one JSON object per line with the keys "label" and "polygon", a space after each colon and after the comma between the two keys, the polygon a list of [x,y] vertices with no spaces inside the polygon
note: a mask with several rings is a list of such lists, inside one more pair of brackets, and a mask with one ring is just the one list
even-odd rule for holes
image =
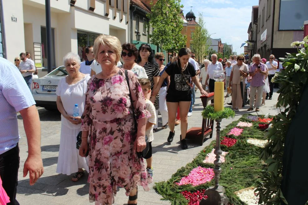
{"label": "green fern-like greenery surrounding the petal patches of the flower carpet", "polygon": [[[234,128],[238,122],[247,121],[247,116],[248,115],[243,115],[239,120],[227,125],[226,128],[221,131],[221,138],[226,136],[226,134],[230,132],[230,130]],[[226,195],[230,201],[229,204],[246,205],[246,203],[242,202],[234,194],[234,192],[243,188],[256,186],[260,183],[259,176],[262,172],[264,172],[263,169],[265,168],[265,165],[261,163],[258,156],[261,148],[246,142],[247,137],[256,139],[264,138],[264,131],[257,129],[259,122],[252,123],[252,127],[243,128],[244,131],[234,146],[227,147],[221,145],[221,149],[229,152],[229,154],[226,155],[225,162],[221,165],[222,172],[219,183],[226,189]],[[255,132],[256,134],[246,136],[246,134],[244,134],[246,131],[251,133]],[[214,164],[205,164],[203,163],[203,160],[206,155],[210,153],[213,148],[215,148],[215,144],[216,141],[212,141],[208,146],[201,150],[201,152],[191,163],[188,163],[185,167],[178,169],[168,181],[155,183],[154,189],[163,197],[162,200],[170,200],[172,205],[187,205],[187,200],[181,194],[182,191],[186,190],[195,192],[196,190],[207,189],[210,186],[214,186],[214,179],[211,182],[201,184],[196,187],[191,185],[178,186],[175,182],[179,182],[182,177],[187,176],[190,171],[197,166],[214,168]]]}

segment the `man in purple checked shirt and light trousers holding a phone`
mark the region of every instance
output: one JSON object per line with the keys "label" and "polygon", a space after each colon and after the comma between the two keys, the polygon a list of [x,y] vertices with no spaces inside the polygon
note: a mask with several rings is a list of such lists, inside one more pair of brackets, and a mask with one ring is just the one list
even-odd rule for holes
{"label": "man in purple checked shirt and light trousers holding a phone", "polygon": [[263,86],[265,85],[264,76],[267,74],[266,65],[260,62],[260,54],[253,56],[255,63],[251,65],[249,69],[249,75],[251,76],[250,83],[250,108],[247,111],[252,111],[255,102],[255,95],[257,91],[256,99],[256,111],[260,111],[261,97],[263,94]]}

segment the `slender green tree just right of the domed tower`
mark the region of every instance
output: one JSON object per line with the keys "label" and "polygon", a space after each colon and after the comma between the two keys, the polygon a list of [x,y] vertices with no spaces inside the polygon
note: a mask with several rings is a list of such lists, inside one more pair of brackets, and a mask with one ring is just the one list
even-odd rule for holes
{"label": "slender green tree just right of the domed tower", "polygon": [[198,25],[196,26],[195,31],[192,33],[191,38],[192,51],[196,54],[197,61],[200,62],[202,58],[208,53],[209,46],[211,45],[210,35],[205,27],[202,13],[199,13]]}

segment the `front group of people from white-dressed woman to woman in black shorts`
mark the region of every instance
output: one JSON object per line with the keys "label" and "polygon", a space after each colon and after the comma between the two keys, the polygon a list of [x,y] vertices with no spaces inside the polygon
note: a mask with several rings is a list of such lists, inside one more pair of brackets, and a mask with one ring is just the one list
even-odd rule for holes
{"label": "front group of people from white-dressed woman to woman in black shorts", "polygon": [[[170,129],[166,140],[173,141],[175,125],[180,124],[181,148],[188,148],[187,118],[192,115],[195,87],[208,95],[197,77],[200,67],[188,48],[180,49],[165,66],[164,54],[154,53],[149,44],[137,49],[108,35],[97,37],[85,55],[83,62],[72,52],[63,59],[69,75],[56,92],[62,114],[57,173],[75,173],[72,181],[78,181],[84,170],[89,172],[91,202],[112,204],[122,187],[128,203],[137,203],[137,185],[149,190],[152,183],[152,141],[159,112],[161,129]],[[78,151],[74,142],[79,132]],[[138,156],[146,145],[149,151]]]}

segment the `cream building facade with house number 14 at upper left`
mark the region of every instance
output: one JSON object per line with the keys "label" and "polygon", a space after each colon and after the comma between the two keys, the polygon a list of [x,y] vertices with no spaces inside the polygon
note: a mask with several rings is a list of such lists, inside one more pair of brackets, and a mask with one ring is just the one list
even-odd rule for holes
{"label": "cream building facade with house number 14 at upper left", "polygon": [[71,51],[84,59],[84,48],[99,34],[128,41],[128,0],[50,0],[52,59],[47,59],[45,1],[2,2],[6,58],[13,61],[19,53],[30,52],[38,70],[47,71],[49,60],[52,68],[63,65],[63,56]]}

